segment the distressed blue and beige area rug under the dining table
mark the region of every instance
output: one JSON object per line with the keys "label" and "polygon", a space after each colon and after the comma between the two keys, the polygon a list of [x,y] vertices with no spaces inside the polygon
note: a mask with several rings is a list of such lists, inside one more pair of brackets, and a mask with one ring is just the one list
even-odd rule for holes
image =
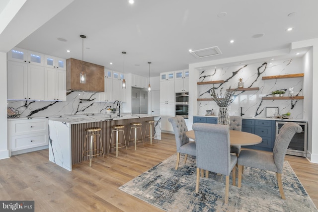
{"label": "distressed blue and beige area rug under the dining table", "polygon": [[119,189],[167,212],[318,211],[287,161],[282,174],[286,200],[280,197],[274,172],[245,167],[241,188],[232,185],[230,175],[225,204],[225,176],[210,172],[209,178],[200,178],[196,194],[195,157],[188,156],[186,164],[182,159],[178,170],[174,154]]}

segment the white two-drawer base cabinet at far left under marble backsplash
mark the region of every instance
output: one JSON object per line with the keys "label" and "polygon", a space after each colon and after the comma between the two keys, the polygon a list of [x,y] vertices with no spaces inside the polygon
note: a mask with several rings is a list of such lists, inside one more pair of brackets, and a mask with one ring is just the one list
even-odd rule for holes
{"label": "white two-drawer base cabinet at far left under marble backsplash", "polygon": [[48,119],[8,120],[8,141],[11,155],[47,148]]}

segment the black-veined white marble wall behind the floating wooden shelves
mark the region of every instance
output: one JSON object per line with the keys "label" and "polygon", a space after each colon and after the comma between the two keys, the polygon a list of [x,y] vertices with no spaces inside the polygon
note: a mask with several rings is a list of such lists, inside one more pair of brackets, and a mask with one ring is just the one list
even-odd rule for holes
{"label": "black-veined white marble wall behind the floating wooden shelves", "polygon": [[[220,88],[226,90],[237,88],[239,78],[243,79],[244,88],[259,87],[259,90],[236,91],[234,100],[229,106],[230,115],[242,113],[248,117],[266,117],[266,107],[278,107],[279,114],[291,113],[294,119],[303,118],[303,100],[262,100],[262,97],[272,96],[275,90],[285,90],[285,96],[290,94],[289,88],[294,87],[294,95],[303,96],[303,77],[262,80],[263,76],[304,73],[301,58],[247,64],[233,67],[203,70],[198,82],[224,80],[224,83],[214,84],[217,92]],[[198,98],[212,98],[210,90],[213,84],[197,85]],[[306,98],[306,97],[304,97]],[[197,101],[198,115],[205,115],[206,110],[214,109],[218,114],[219,106],[214,101]]]}

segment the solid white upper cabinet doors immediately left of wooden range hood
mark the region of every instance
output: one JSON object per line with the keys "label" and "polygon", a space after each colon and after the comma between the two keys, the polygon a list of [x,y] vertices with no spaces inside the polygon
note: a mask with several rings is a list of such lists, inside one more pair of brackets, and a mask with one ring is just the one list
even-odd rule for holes
{"label": "solid white upper cabinet doors immediately left of wooden range hood", "polygon": [[66,71],[44,68],[44,100],[66,101]]}

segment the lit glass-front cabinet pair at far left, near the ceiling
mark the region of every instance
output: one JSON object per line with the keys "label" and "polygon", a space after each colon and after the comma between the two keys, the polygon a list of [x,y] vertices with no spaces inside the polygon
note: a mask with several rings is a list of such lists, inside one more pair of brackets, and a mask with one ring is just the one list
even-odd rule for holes
{"label": "lit glass-front cabinet pair at far left, near the ceiling", "polygon": [[20,48],[13,48],[8,52],[8,60],[43,66],[44,54]]}

